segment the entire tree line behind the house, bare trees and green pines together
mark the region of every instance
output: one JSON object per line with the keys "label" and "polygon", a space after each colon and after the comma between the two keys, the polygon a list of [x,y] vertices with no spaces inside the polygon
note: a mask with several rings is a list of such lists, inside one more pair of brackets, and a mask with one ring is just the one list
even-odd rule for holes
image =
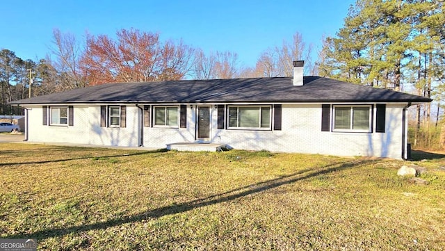
{"label": "entire tree line behind the house, bare trees and green pines together", "polygon": [[[442,97],[445,88],[437,83],[444,81],[443,10],[439,0],[360,0],[337,35],[323,40],[316,63],[312,44],[297,32],[265,49],[254,67],[243,67],[235,52],[204,53],[182,40],[161,40],[158,33],[121,29],[114,38],[86,34],[77,40],[55,29],[44,59],[22,60],[13,51],[1,51],[0,113],[11,113],[7,102],[29,93],[34,97],[101,83],[291,76],[292,61],[301,59],[305,74]],[[420,118],[429,122],[430,113],[429,106],[419,106],[417,124]]]}

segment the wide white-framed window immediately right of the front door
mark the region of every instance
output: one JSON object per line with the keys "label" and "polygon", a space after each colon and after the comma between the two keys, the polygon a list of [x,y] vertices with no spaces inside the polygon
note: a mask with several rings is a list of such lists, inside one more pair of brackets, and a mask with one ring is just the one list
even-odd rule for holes
{"label": "wide white-framed window immediately right of the front door", "polygon": [[229,129],[270,130],[271,106],[229,106]]}

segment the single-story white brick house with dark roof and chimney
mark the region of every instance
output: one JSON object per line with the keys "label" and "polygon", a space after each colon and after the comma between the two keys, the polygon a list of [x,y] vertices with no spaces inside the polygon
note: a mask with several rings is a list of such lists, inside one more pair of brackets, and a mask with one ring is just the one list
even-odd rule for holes
{"label": "single-story white brick house with dark roof and chimney", "polygon": [[304,76],[107,83],[22,99],[26,140],[407,158],[407,108],[431,99]]}

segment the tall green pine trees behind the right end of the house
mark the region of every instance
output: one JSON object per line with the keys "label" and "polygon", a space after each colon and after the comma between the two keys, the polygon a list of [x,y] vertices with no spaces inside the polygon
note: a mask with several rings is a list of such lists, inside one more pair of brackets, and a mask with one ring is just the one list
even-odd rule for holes
{"label": "tall green pine trees behind the right end of the house", "polygon": [[[319,72],[432,97],[434,84],[445,82],[444,24],[441,0],[357,1],[336,37],[326,39]],[[417,106],[416,131],[421,118],[430,124],[431,104],[424,106]]]}

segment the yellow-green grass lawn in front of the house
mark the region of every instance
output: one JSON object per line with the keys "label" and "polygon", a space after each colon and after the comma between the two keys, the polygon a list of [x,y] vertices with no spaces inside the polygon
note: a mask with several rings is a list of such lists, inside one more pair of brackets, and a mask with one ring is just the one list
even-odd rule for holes
{"label": "yellow-green grass lawn in front of the house", "polygon": [[[442,250],[445,158],[0,144],[0,238],[39,250]],[[421,159],[426,159],[421,161]],[[412,164],[412,163],[409,163]]]}

